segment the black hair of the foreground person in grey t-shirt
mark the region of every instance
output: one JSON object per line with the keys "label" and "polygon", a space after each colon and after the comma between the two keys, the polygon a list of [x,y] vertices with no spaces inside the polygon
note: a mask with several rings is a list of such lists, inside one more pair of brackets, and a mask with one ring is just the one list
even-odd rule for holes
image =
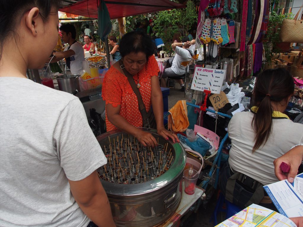
{"label": "black hair of the foreground person in grey t-shirt", "polygon": [[5,40],[9,35],[14,38],[17,34],[16,28],[20,24],[21,17],[27,10],[33,7],[39,9],[42,21],[46,22],[51,10],[55,8],[57,13],[60,6],[59,0],[1,0],[0,1],[0,60]]}

